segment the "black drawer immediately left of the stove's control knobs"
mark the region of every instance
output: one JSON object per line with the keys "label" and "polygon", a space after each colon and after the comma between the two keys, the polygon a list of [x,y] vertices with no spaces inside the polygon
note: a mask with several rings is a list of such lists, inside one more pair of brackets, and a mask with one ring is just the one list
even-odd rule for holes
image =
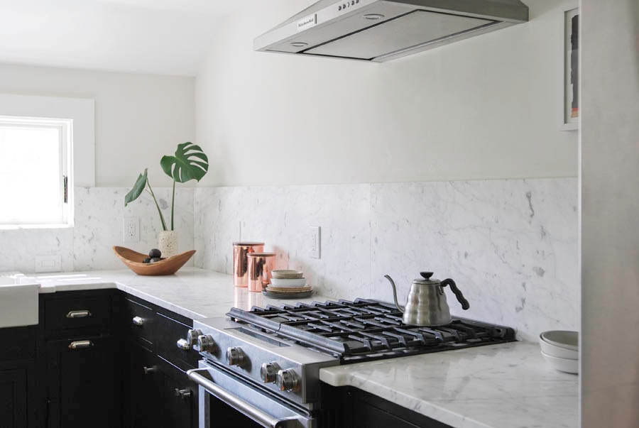
{"label": "black drawer immediately left of the stove's control knobs", "polygon": [[185,339],[187,331],[193,328],[192,325],[183,324],[163,314],[156,314],[156,317],[158,332],[161,332],[155,341],[158,355],[184,371],[197,367],[200,355],[192,349],[184,350],[177,346],[178,340]]}

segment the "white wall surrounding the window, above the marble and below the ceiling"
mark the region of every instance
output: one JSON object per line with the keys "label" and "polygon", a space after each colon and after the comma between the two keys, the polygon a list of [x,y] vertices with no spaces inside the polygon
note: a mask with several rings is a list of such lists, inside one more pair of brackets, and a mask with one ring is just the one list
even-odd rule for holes
{"label": "white wall surrounding the window, above the marble and below the ceiling", "polygon": [[152,185],[170,185],[160,158],[195,137],[194,84],[192,77],[0,64],[0,93],[95,100],[98,187],[131,186],[144,168]]}

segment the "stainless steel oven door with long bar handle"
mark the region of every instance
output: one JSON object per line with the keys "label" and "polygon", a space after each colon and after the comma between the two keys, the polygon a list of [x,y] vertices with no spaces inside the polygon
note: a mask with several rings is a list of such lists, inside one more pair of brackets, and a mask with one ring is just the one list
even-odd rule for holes
{"label": "stainless steel oven door with long bar handle", "polygon": [[242,415],[262,427],[271,428],[315,428],[317,420],[301,411],[293,410],[283,402],[266,395],[263,391],[244,383],[234,375],[225,373],[210,364],[200,361],[200,368],[187,371],[187,375],[200,391],[200,428],[217,424],[218,419],[210,408],[210,396],[233,407]]}

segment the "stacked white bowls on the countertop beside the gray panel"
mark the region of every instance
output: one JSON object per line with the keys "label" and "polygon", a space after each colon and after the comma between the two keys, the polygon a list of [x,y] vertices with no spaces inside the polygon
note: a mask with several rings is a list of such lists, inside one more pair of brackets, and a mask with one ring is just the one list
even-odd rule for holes
{"label": "stacked white bowls on the countertop beside the gray panel", "polygon": [[542,356],[555,370],[579,373],[579,333],[551,330],[539,335]]}

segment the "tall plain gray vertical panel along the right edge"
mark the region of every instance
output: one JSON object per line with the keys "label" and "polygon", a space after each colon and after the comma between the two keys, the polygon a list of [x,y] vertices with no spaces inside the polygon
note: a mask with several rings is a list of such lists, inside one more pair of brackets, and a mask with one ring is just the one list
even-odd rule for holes
{"label": "tall plain gray vertical panel along the right edge", "polygon": [[581,16],[582,426],[639,427],[639,2]]}

